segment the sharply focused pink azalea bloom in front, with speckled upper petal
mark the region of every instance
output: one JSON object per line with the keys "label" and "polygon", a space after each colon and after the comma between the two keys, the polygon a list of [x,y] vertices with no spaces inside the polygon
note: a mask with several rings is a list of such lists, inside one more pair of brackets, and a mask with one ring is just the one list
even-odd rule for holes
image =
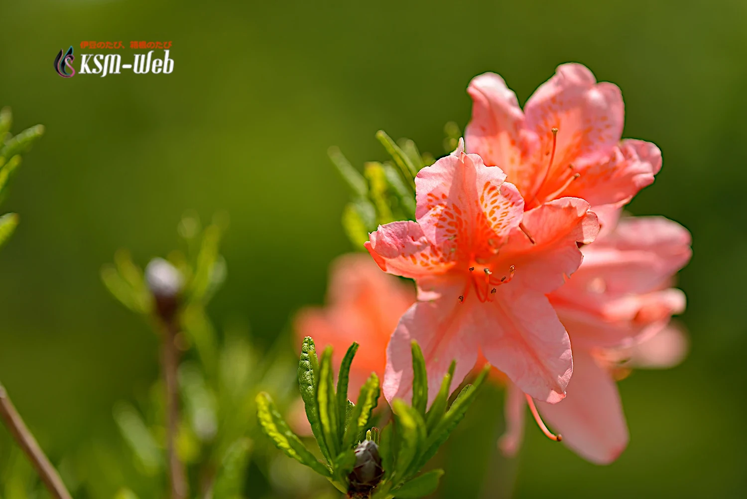
{"label": "sharply focused pink azalea bloom in front, with speckled upper petal", "polygon": [[545,294],[578,268],[577,242],[594,239],[597,217],[577,198],[524,212],[505,180],[460,141],[415,178],[417,221],[371,233],[366,248],[381,269],[418,284],[387,349],[387,399],[409,395],[412,340],[424,352],[431,399],[453,359],[461,380],[480,352],[533,397],[565,397],[571,344]]}

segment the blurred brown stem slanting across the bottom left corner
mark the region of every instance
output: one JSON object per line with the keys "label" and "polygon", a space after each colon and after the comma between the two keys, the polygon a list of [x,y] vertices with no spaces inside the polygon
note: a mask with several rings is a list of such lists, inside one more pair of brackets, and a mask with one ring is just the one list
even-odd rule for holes
{"label": "blurred brown stem slanting across the bottom left corner", "polygon": [[60,478],[55,467],[49,462],[44,451],[39,447],[37,439],[28,430],[28,427],[23,422],[21,415],[16,411],[16,407],[13,402],[10,402],[10,398],[7,396],[7,391],[3,385],[0,384],[0,417],[10,430],[10,434],[16,439],[19,447],[28,456],[31,464],[34,465],[34,469],[39,474],[39,477],[44,482],[47,490],[55,499],[72,499],[70,493],[67,492],[65,484]]}

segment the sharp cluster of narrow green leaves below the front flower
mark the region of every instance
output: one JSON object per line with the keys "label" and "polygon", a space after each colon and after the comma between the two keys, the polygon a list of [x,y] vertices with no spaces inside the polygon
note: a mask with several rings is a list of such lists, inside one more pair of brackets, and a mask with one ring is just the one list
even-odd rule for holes
{"label": "sharp cluster of narrow green leaves below the front flower", "polygon": [[[417,475],[464,417],[477,388],[487,376],[489,366],[486,365],[477,376],[474,386],[466,385],[459,392],[455,402],[447,409],[450,383],[456,365],[452,363],[430,411],[426,411],[428,381],[425,361],[418,343],[413,341],[413,405],[394,399],[394,422],[379,432],[378,428],[367,430],[371,412],[376,408],[380,395],[376,374],[372,373],[360,389],[357,404],[354,405],[347,399],[350,365],[357,351],[357,343],[353,343],[347,350],[341,362],[335,392],[332,384],[332,347],[328,346],[324,350],[319,361],[311,337],[304,338],[301,346],[298,384],[323,462],[307,450],[300,438],[291,432],[275,409],[270,396],[264,392],[257,396],[257,415],[262,431],[279,450],[326,477],[339,491],[349,492],[349,497],[353,497],[353,494],[355,497],[373,494],[378,499],[418,498],[433,493],[444,472],[435,470]],[[353,482],[350,481],[353,476],[351,472],[356,468],[355,451],[359,448],[364,432],[365,440],[373,441],[378,446],[380,468],[383,469],[382,477],[376,478],[380,481],[365,486],[371,489],[368,492],[353,489]],[[356,487],[359,486],[356,482]]]}

